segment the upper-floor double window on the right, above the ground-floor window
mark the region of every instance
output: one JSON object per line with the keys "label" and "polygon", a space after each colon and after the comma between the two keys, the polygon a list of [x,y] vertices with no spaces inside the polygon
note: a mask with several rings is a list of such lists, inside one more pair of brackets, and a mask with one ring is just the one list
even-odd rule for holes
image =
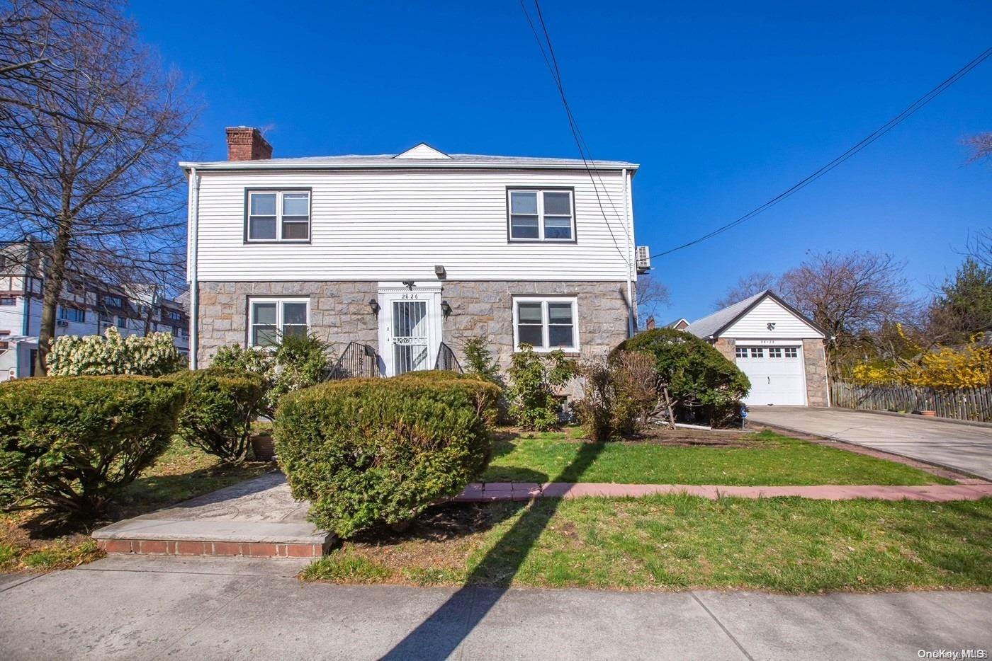
{"label": "upper-floor double window on the right, above the ground-floor window", "polygon": [[574,241],[570,188],[509,189],[510,241]]}

